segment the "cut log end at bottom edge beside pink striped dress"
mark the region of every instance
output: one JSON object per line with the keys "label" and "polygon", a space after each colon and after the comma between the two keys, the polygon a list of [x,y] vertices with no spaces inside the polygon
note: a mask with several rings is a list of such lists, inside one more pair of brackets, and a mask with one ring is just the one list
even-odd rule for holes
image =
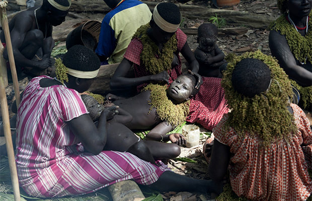
{"label": "cut log end at bottom edge beside pink striped dress", "polygon": [[145,197],[139,186],[132,180],[119,181],[108,186],[114,201],[139,201]]}

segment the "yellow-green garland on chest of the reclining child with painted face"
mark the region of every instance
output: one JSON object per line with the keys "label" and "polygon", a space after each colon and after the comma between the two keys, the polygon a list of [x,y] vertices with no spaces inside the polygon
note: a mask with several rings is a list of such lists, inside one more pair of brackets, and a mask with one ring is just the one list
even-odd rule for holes
{"label": "yellow-green garland on chest of the reclining child with painted face", "polygon": [[143,91],[150,90],[150,109],[155,108],[162,121],[176,127],[182,124],[190,112],[190,101],[175,105],[167,96],[167,85],[148,84]]}

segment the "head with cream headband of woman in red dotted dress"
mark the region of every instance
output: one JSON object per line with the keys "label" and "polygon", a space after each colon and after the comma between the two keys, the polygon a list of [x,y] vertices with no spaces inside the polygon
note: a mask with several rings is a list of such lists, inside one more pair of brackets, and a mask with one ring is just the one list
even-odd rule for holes
{"label": "head with cream headband of woman in red dotted dress", "polygon": [[165,44],[176,33],[182,21],[177,5],[172,3],[158,4],[150,20],[151,34],[155,42]]}

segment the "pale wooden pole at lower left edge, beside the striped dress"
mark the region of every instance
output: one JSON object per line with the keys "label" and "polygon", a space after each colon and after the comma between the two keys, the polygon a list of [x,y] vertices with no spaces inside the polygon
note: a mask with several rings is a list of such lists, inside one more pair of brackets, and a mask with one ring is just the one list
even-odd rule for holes
{"label": "pale wooden pole at lower left edge, beside the striped dress", "polygon": [[7,95],[6,95],[6,90],[5,90],[5,85],[4,85],[2,74],[0,74],[0,104],[1,104],[1,115],[3,119],[3,126],[4,126],[4,131],[5,131],[5,138],[6,138],[6,147],[7,147],[8,158],[9,158],[11,179],[12,179],[12,185],[13,185],[14,200],[20,201],[21,197],[20,197],[19,179],[17,176],[14,149],[13,149],[13,143],[12,143],[12,135],[11,135],[11,129],[10,129],[9,108],[8,108]]}

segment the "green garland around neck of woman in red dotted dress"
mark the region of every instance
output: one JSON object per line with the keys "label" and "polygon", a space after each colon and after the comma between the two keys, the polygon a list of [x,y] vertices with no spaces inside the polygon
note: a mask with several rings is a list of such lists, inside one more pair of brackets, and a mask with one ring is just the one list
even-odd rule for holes
{"label": "green garland around neck of woman in red dotted dress", "polygon": [[[171,70],[171,63],[173,61],[174,52],[177,51],[177,38],[174,34],[167,43],[164,44],[162,52],[159,51],[158,46],[149,38],[147,30],[150,28],[149,23],[138,28],[133,38],[138,38],[143,50],[140,54],[141,62],[143,62],[146,70],[151,74],[157,74],[164,70]],[[156,58],[155,55],[159,55]]]}

